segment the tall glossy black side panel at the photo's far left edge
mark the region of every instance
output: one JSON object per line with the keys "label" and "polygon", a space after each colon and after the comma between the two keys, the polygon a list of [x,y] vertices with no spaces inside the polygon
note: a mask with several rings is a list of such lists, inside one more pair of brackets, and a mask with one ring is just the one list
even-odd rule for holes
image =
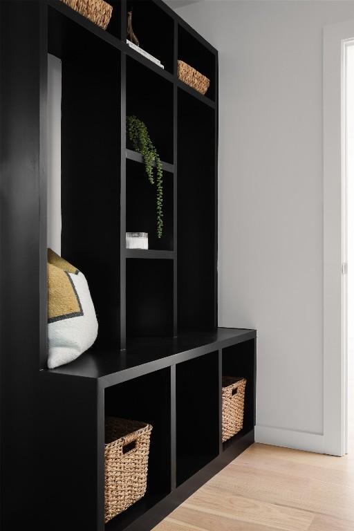
{"label": "tall glossy black side panel at the photo's far left edge", "polygon": [[[37,378],[46,205],[39,4],[0,2],[0,528],[37,521]],[[43,330],[41,330],[43,332]],[[21,485],[21,487],[19,487]],[[19,497],[21,503],[19,507]]]}

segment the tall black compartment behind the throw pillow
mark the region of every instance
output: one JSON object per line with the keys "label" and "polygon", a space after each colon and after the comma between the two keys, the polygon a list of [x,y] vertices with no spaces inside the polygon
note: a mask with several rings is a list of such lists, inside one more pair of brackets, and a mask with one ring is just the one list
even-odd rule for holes
{"label": "tall black compartment behind the throw pillow", "polygon": [[115,347],[120,344],[120,53],[50,7],[48,53],[61,60],[62,120],[55,126],[61,136],[61,254],[88,281],[99,323],[96,346]]}

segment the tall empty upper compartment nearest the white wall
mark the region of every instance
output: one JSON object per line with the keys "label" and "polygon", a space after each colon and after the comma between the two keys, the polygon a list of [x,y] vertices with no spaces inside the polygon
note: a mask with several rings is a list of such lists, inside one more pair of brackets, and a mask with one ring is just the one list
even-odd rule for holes
{"label": "tall empty upper compartment nearest the white wall", "polygon": [[178,328],[216,326],[215,115],[178,91]]}

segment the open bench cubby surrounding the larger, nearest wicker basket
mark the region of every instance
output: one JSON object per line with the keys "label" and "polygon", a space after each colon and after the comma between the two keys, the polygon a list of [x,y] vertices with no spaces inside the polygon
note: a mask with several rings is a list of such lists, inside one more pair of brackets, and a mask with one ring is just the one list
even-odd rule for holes
{"label": "open bench cubby surrounding the larger, nearest wicker basket", "polygon": [[152,426],[147,492],[106,523],[106,530],[126,528],[171,492],[171,378],[170,369],[111,386],[104,396],[106,417],[138,420]]}

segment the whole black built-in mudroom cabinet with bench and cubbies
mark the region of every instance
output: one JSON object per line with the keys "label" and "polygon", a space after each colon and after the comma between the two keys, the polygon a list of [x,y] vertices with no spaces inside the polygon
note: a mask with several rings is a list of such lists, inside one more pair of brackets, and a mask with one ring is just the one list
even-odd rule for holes
{"label": "whole black built-in mudroom cabinet with bench and cubbies", "polygon": [[[59,0],[0,2],[1,525],[148,531],[254,440],[256,333],[217,327],[218,55],[160,0],[101,30]],[[142,47],[126,44],[127,6]],[[46,369],[47,57],[62,60],[62,255],[88,279],[95,346]],[[183,59],[210,79],[180,82]],[[164,234],[127,115],[163,160]],[[149,250],[126,250],[126,231]],[[222,443],[221,379],[247,378]],[[153,425],[145,497],[104,525],[104,418]]]}

